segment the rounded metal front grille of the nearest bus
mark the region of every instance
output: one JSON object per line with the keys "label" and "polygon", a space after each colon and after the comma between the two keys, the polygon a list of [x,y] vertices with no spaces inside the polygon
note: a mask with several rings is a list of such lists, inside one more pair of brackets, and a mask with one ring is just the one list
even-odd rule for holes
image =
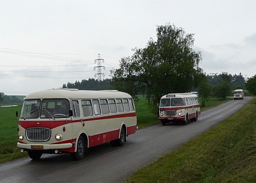
{"label": "rounded metal front grille of the nearest bus", "polygon": [[51,138],[51,129],[49,128],[27,128],[27,140],[32,142],[46,142]]}

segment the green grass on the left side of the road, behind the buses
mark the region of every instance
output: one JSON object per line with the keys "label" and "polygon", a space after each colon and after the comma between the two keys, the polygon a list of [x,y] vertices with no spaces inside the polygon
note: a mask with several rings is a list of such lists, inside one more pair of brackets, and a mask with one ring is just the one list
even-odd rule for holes
{"label": "green grass on the left side of the road, behind the buses", "polygon": [[[146,100],[143,99],[142,95],[140,99],[140,102],[135,103],[138,128],[160,123],[158,117],[149,112]],[[206,108],[219,105],[222,102],[226,102],[226,100],[221,101],[217,98],[210,98],[206,103]],[[0,163],[28,156],[27,152],[21,153],[16,146],[18,142],[18,119],[15,116],[15,112],[18,111],[18,114],[20,114],[21,108],[21,104],[10,108],[0,108]]]}

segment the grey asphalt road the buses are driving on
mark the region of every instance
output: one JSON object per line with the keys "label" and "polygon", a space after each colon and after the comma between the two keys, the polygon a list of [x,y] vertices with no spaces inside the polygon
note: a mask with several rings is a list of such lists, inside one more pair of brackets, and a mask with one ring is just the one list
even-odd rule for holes
{"label": "grey asphalt road the buses are driving on", "polygon": [[159,123],[138,129],[123,147],[105,143],[90,148],[81,161],[73,161],[70,154],[43,154],[38,161],[26,157],[0,164],[0,182],[123,182],[139,168],[232,116],[251,99],[230,100],[202,111],[198,120],[188,125]]}

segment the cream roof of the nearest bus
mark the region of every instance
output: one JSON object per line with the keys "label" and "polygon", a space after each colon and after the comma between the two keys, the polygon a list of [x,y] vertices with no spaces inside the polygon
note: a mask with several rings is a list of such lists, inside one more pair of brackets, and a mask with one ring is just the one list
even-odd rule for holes
{"label": "cream roof of the nearest bus", "polygon": [[24,100],[43,98],[132,98],[131,95],[117,90],[79,90],[79,89],[48,89],[27,95]]}

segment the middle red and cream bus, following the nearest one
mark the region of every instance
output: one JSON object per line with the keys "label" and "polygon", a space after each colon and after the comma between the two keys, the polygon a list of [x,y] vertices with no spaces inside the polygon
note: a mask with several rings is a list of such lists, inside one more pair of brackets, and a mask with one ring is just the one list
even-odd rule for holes
{"label": "middle red and cream bus, following the nearest one", "polygon": [[163,125],[169,122],[196,121],[200,115],[200,104],[196,94],[174,93],[163,95],[160,100],[159,117]]}

